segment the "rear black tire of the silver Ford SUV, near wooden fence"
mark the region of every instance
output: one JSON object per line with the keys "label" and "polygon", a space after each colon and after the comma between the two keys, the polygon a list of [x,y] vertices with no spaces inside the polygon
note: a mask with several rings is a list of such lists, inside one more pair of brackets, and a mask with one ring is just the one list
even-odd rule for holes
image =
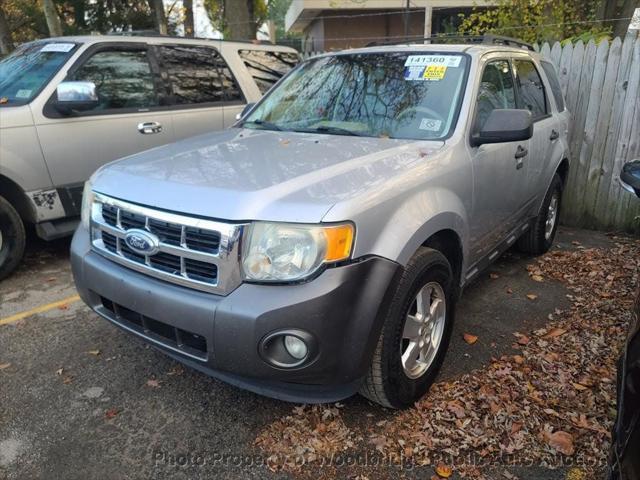
{"label": "rear black tire of the silver Ford SUV, near wooden fence", "polygon": [[[560,206],[562,204],[562,189],[562,179],[556,173],[551,180],[551,185],[544,197],[538,216],[533,220],[531,228],[529,228],[529,230],[527,230],[524,235],[518,239],[518,250],[531,255],[542,255],[549,251],[551,245],[553,245],[553,240],[555,239],[556,232],[558,231],[558,224],[560,223],[559,215]],[[554,196],[557,196],[558,202],[556,206],[556,217],[553,229],[551,230],[550,235],[547,236],[546,226],[547,219],[549,218],[549,206],[551,205],[551,201]]]}

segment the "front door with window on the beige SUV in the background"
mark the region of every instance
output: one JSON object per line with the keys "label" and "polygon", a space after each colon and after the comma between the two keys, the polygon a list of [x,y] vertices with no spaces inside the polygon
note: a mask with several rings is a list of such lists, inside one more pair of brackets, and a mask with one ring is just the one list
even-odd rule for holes
{"label": "front door with window on the beige SUV in the background", "polygon": [[[152,111],[162,100],[146,45],[105,44],[81,57],[70,72],[67,80],[96,84],[99,105],[70,116],[45,106],[47,116],[34,115],[55,185],[83,182],[105,163],[173,141],[170,112]],[[155,128],[142,133],[141,123]]]}

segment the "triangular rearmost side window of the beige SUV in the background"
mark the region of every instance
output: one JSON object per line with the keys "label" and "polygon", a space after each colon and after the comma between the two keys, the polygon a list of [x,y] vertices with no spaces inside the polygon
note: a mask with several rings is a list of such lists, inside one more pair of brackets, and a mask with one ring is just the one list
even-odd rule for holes
{"label": "triangular rearmost side window of the beige SUV in the background", "polygon": [[240,50],[238,55],[263,95],[300,61],[297,54],[290,52]]}

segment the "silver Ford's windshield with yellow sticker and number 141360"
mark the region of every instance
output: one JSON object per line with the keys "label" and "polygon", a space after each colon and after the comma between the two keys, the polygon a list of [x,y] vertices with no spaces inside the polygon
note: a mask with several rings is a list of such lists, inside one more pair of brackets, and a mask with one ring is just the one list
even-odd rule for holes
{"label": "silver Ford's windshield with yellow sticker and number 141360", "polygon": [[455,127],[462,54],[366,53],[311,60],[242,122],[247,128],[441,139]]}

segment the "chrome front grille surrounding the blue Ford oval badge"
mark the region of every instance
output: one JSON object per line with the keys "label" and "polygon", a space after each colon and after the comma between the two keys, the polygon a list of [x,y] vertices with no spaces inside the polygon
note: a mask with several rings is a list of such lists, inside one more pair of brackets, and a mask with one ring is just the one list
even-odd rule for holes
{"label": "chrome front grille surrounding the blue Ford oval badge", "polygon": [[[94,250],[133,270],[182,286],[226,295],[240,285],[239,239],[244,224],[215,222],[155,210],[94,194]],[[160,241],[142,255],[125,243],[129,229],[144,229]]]}

